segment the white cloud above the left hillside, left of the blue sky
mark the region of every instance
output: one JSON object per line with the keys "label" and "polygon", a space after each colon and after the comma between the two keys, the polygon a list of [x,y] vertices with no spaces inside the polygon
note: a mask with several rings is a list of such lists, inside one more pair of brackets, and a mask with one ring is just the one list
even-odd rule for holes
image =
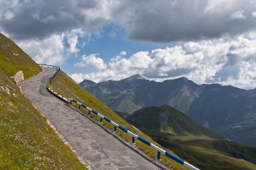
{"label": "white cloud above the left hillside, left of the blue sky", "polygon": [[[78,36],[85,36],[82,29],[53,34],[42,40],[22,40],[19,46],[38,63],[62,65],[72,54],[77,54]],[[67,45],[67,46],[66,46]]]}

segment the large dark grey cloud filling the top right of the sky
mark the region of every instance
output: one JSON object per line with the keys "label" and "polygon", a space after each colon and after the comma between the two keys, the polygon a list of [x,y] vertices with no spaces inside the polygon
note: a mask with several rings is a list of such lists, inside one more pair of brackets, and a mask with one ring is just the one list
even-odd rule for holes
{"label": "large dark grey cloud filling the top right of the sky", "polygon": [[[207,11],[207,1],[151,1],[146,7],[135,10],[129,37],[135,40],[170,42],[233,36],[254,30],[256,19],[252,11],[256,10],[255,1],[253,6],[250,1],[233,3],[230,7],[217,5]],[[224,1],[222,5],[226,5]],[[236,11],[241,11],[244,17],[230,17]]]}

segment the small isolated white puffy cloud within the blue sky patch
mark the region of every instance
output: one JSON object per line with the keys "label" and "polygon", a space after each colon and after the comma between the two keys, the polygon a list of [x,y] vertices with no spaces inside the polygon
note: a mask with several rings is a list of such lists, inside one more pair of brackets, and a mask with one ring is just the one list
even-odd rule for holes
{"label": "small isolated white puffy cloud within the blue sky patch", "polygon": [[98,57],[98,54],[90,54],[90,56],[83,55],[81,61],[75,63],[75,67],[94,67],[98,70],[106,69],[104,60]]}

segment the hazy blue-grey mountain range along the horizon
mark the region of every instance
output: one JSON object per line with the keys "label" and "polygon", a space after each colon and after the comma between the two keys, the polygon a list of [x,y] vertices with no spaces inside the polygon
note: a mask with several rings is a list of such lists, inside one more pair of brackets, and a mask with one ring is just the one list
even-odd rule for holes
{"label": "hazy blue-grey mountain range along the horizon", "polygon": [[156,82],[140,75],[100,83],[84,80],[79,85],[117,112],[132,114],[167,104],[231,140],[256,144],[255,89],[197,85],[185,77]]}

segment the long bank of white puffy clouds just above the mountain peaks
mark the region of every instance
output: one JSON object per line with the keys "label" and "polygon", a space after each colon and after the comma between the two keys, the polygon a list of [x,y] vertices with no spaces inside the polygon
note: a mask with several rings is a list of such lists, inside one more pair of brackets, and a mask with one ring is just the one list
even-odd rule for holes
{"label": "long bank of white puffy clouds just above the mountain peaks", "polygon": [[114,57],[104,64],[105,69],[71,77],[79,83],[82,79],[100,82],[140,74],[155,81],[187,77],[199,84],[256,87],[255,43],[255,39],[247,36],[187,42],[181,46],[137,52],[128,58]]}

